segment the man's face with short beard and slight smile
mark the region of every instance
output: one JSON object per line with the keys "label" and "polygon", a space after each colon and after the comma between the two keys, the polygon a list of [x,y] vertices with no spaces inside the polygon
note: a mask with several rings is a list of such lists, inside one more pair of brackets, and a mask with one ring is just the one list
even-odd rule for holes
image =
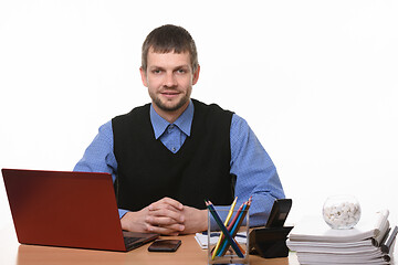
{"label": "man's face with short beard and slight smile", "polygon": [[192,73],[189,53],[155,53],[150,49],[147,70],[140,68],[143,84],[148,87],[155,110],[161,114],[181,114],[199,77],[199,67]]}

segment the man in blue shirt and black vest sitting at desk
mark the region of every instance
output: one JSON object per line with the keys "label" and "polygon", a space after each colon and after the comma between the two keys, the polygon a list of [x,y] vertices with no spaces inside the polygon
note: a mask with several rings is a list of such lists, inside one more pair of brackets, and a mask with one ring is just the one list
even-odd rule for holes
{"label": "man in blue shirt and black vest sitting at desk", "polygon": [[264,225],[284,198],[276,169],[244,119],[190,98],[200,66],[189,32],[155,29],[142,56],[151,104],[103,125],[74,170],[113,174],[127,231],[205,231],[203,200],[228,209],[234,197],[238,205],[252,197],[251,225]]}

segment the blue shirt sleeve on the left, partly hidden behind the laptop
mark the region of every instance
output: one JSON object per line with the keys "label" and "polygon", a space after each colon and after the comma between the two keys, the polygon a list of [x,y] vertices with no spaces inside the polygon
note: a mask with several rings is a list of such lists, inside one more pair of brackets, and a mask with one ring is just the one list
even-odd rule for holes
{"label": "blue shirt sleeve on the left, partly hidden behind the laptop", "polygon": [[[113,152],[112,121],[100,127],[98,134],[85,150],[83,158],[76,163],[73,171],[111,173],[113,181],[116,179],[117,162]],[[126,213],[119,209],[119,218]]]}

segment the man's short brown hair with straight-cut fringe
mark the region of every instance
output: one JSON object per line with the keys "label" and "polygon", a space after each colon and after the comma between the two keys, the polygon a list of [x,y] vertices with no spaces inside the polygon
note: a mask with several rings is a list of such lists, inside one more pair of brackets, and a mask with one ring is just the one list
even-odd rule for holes
{"label": "man's short brown hair with straight-cut fringe", "polygon": [[149,49],[153,49],[156,53],[189,52],[192,71],[195,72],[198,68],[198,53],[195,41],[182,26],[161,25],[147,35],[142,52],[142,67],[144,71],[147,70]]}

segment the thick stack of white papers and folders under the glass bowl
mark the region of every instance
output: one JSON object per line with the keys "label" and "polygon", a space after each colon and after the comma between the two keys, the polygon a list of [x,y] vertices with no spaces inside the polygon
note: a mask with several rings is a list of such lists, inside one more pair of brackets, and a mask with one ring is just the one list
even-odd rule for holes
{"label": "thick stack of white papers and folders under the glass bowl", "polygon": [[387,210],[349,230],[334,230],[322,216],[308,216],[294,226],[286,245],[300,264],[392,264],[396,234]]}

